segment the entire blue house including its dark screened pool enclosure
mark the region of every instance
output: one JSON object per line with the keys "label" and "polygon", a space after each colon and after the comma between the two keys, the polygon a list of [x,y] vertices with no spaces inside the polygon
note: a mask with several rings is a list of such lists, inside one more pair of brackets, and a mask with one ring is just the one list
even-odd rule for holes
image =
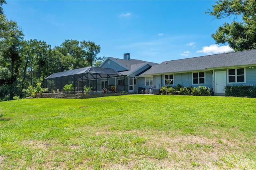
{"label": "entire blue house including its dark screened pool enclosure", "polygon": [[152,93],[154,90],[154,94],[158,94],[162,86],[180,84],[184,87],[206,86],[214,95],[224,95],[227,85],[256,85],[256,49],[170,60],[160,64],[135,60],[125,53],[123,59],[108,57],[99,68],[88,69],[54,73],[45,79],[45,88],[61,89],[64,81],[74,84],[74,91],[82,91],[85,85],[93,87],[94,91],[104,88],[110,91],[110,87],[115,86],[118,92],[142,93],[142,89],[145,89],[146,92]]}

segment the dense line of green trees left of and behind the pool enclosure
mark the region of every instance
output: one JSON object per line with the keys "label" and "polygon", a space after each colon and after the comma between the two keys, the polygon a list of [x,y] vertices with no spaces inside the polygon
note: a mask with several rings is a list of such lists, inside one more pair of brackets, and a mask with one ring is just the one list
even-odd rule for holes
{"label": "dense line of green trees left of and behind the pool enclosure", "polygon": [[92,41],[65,40],[52,48],[45,41],[24,40],[18,24],[4,15],[0,0],[0,96],[22,98],[22,90],[44,86],[44,78],[56,72],[87,66],[99,66],[105,57],[98,57],[100,45]]}

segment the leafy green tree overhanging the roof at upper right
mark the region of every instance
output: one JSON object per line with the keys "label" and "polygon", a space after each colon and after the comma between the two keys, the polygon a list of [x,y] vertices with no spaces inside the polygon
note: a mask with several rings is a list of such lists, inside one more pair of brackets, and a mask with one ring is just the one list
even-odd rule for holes
{"label": "leafy green tree overhanging the roof at upper right", "polygon": [[216,44],[228,43],[235,51],[256,48],[256,1],[218,0],[207,14],[217,19],[242,17],[242,22],[224,23],[212,34]]}

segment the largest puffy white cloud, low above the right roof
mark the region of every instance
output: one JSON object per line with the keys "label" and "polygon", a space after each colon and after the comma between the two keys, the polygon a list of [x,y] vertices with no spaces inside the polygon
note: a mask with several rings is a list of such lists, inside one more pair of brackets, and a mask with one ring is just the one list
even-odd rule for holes
{"label": "largest puffy white cloud, low above the right roof", "polygon": [[202,50],[199,50],[197,52],[202,52],[204,54],[211,55],[230,51],[234,51],[232,48],[230,48],[230,46],[220,46],[218,44],[212,44],[210,46],[202,47]]}

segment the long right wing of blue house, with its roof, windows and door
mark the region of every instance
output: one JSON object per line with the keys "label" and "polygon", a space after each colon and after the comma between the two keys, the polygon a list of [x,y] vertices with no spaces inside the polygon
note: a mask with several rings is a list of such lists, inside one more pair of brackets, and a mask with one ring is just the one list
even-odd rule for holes
{"label": "long right wing of blue house, with its roof, windows and door", "polygon": [[256,49],[166,61],[136,78],[138,86],[144,88],[206,86],[214,95],[224,95],[227,85],[256,85]]}

